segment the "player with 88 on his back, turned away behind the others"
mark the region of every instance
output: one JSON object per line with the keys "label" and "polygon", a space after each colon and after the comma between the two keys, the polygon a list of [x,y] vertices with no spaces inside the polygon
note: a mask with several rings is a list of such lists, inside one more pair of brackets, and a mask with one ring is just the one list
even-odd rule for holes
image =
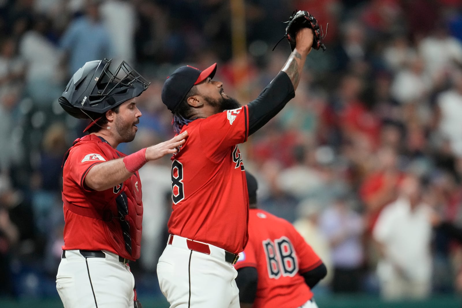
{"label": "player with 88 on his back, turned away behind the others", "polygon": [[241,308],[316,308],[311,289],[326,266],[291,223],[257,208],[257,181],[246,177],[249,242],[234,265]]}

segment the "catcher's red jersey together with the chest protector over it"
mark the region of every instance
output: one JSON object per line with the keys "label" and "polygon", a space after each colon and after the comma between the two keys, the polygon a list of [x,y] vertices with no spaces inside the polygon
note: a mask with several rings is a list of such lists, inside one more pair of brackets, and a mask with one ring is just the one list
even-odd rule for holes
{"label": "catcher's red jersey together with the chest protector over it", "polygon": [[[108,250],[123,258],[136,260],[140,256],[141,240],[141,181],[138,171],[126,181],[104,191],[95,191],[85,186],[85,176],[94,165],[125,154],[113,149],[108,143],[94,134],[82,137],[69,150],[63,167],[64,201],[64,250]],[[86,212],[105,213],[110,211],[117,216],[116,197],[125,192],[128,197],[126,220],[130,223],[132,254],[128,254],[118,218],[110,221],[86,216]],[[84,214],[79,215],[69,209],[70,203]]]}

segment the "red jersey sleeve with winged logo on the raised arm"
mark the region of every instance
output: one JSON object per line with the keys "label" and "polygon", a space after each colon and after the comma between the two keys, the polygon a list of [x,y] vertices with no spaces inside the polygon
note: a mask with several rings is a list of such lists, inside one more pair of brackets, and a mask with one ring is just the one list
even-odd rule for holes
{"label": "red jersey sleeve with winged logo on the raised arm", "polygon": [[229,150],[230,146],[247,141],[249,137],[249,109],[243,106],[212,115],[201,122],[199,133],[204,152],[213,159],[213,153]]}

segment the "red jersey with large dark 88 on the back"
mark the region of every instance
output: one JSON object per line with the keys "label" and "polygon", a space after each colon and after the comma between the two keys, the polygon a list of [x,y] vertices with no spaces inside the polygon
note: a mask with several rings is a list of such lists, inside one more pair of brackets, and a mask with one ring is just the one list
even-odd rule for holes
{"label": "red jersey with large dark 88 on the back", "polygon": [[266,211],[250,209],[249,242],[236,269],[258,272],[254,308],[296,308],[313,297],[300,273],[322,264],[291,223]]}

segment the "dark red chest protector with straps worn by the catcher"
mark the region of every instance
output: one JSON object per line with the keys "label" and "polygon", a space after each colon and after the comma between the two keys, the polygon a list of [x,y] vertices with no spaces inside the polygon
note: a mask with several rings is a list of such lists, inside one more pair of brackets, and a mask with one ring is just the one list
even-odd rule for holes
{"label": "dark red chest protector with straps worn by the catcher", "polygon": [[[120,157],[126,156],[125,154],[116,151],[112,148],[109,143],[107,143],[103,138],[100,138],[94,134],[86,135],[82,138],[76,139],[73,143],[73,147],[80,145],[85,142],[94,142],[97,143],[100,150],[103,154],[108,157],[109,159],[117,159]],[[72,147],[66,152],[64,156],[64,160],[62,163],[61,168],[64,168],[64,163],[69,156],[69,152],[71,151]],[[112,222],[113,220],[120,220],[121,221],[121,228],[119,229],[122,234],[122,224],[126,224],[128,222],[129,225],[129,233],[131,238],[131,248],[128,249],[125,242],[122,240],[121,243],[117,243],[119,248],[122,250],[119,251],[126,251],[128,255],[130,255],[130,260],[137,260],[140,258],[140,251],[141,251],[141,223],[143,220],[143,202],[142,202],[142,193],[141,193],[141,181],[140,175],[138,171],[136,171],[133,175],[131,175],[127,180],[123,183],[116,185],[113,188],[109,188],[113,190],[114,193],[111,194],[111,197],[107,200],[108,206],[104,210],[97,209],[95,207],[91,208],[84,208],[80,206],[73,205],[72,203],[68,202],[62,194],[62,200],[64,203],[64,207],[67,208],[69,211],[72,211],[78,215],[91,217],[100,219],[106,222]],[[120,210],[117,206],[117,203],[124,204],[122,206],[124,211]],[[128,211],[128,212],[127,212]],[[124,236],[122,235],[122,239]],[[131,252],[130,252],[131,250]]]}

